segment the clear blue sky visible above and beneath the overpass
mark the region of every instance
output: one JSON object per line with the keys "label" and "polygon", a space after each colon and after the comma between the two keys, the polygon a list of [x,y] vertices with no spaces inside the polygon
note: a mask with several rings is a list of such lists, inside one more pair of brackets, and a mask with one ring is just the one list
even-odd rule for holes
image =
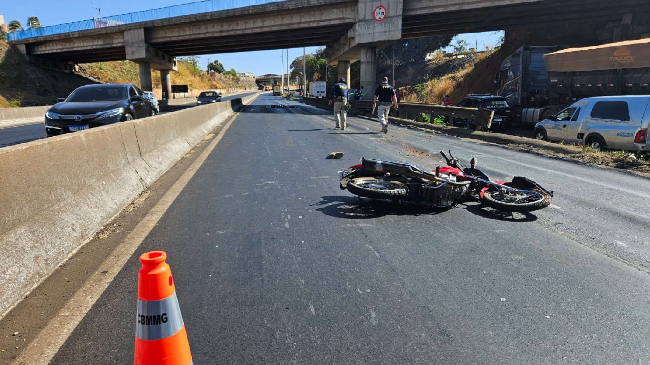
{"label": "clear blue sky visible above and beneath the overpass", "polygon": [[[237,0],[230,0],[237,1]],[[157,0],[155,3],[150,1],[133,1],[133,0],[57,0],[57,1],[3,1],[0,5],[0,14],[5,16],[5,22],[12,19],[18,19],[25,25],[28,16],[38,16],[43,26],[57,25],[92,19],[98,16],[98,10],[92,6],[101,8],[101,16],[112,16],[124,14],[127,12],[137,12],[140,10],[149,10],[164,6],[185,4],[187,0]],[[70,11],[73,9],[73,11]],[[478,41],[479,49],[485,45],[493,47],[497,45],[497,40],[501,37],[502,32],[480,32],[461,34],[459,38],[467,40],[470,47]],[[307,47],[307,53],[313,52],[317,47]],[[279,73],[281,64],[281,55],[286,55],[285,50],[271,51],[254,51],[240,53],[222,53],[219,55],[202,55],[200,57],[201,67],[205,67],[208,60],[219,60],[226,69],[234,68],[239,72],[250,71],[255,75],[265,73]],[[294,58],[302,55],[302,48],[289,49],[289,62]]]}

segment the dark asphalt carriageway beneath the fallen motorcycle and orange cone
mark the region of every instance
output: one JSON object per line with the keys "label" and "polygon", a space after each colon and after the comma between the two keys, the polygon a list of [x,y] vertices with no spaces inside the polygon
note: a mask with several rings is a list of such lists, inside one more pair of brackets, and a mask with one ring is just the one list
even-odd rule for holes
{"label": "dark asphalt carriageway beneath the fallen motorcycle and orange cone", "polygon": [[[647,179],[261,95],[51,364],[133,362],[137,257],[174,271],[194,364],[647,364]],[[285,102],[284,102],[285,103]],[[339,189],[362,155],[433,169],[452,149],[554,206],[398,207]],[[326,160],[343,151],[341,160]]]}

